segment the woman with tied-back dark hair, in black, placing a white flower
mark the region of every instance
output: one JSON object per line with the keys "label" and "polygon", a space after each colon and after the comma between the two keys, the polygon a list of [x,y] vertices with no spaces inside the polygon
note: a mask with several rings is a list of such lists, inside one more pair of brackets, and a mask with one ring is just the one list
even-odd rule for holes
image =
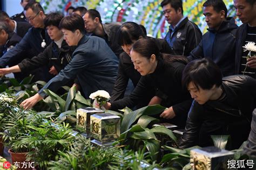
{"label": "woman with tied-back dark hair, in black, placing a white flower", "polygon": [[161,54],[151,39],[139,39],[131,49],[131,60],[141,75],[139,83],[130,96],[104,105],[106,109],[118,110],[125,106],[134,107],[152,89],[161,98],[161,105],[169,107],[160,114],[161,118],[184,126],[191,98],[181,87],[181,74],[187,63],[183,56]]}

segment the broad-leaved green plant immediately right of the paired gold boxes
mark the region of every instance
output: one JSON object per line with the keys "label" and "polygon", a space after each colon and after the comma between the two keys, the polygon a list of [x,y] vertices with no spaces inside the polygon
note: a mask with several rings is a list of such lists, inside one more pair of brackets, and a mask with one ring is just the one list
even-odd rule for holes
{"label": "broad-leaved green plant immediately right of the paired gold boxes", "polygon": [[[150,117],[150,115],[159,114],[164,110],[165,107],[160,105],[146,106],[136,111],[125,108],[121,123],[122,134],[119,138],[121,145],[128,145],[134,151],[137,151],[138,148],[142,149],[145,145],[152,161],[156,161],[160,151],[160,141],[155,134],[161,133],[168,135],[174,142],[177,142],[177,138],[172,131],[164,126],[157,126],[151,129],[147,128],[151,124],[158,122],[158,119]],[[134,124],[136,121],[137,124]]]}

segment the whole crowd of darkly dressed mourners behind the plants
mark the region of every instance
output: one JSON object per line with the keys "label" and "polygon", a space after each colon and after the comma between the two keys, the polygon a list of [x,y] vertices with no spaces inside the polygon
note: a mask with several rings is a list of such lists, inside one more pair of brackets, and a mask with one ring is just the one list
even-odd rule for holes
{"label": "whole crowd of darkly dressed mourners behind the plants", "polygon": [[102,23],[97,10],[83,6],[64,17],[44,13],[36,1],[21,5],[12,17],[0,11],[0,74],[47,82],[21,103],[25,109],[46,97],[44,89],[76,86],[86,99],[105,90],[107,110],[167,107],[157,118],[185,128],[180,148],[211,146],[210,135],[229,134],[232,148],[247,140],[244,153],[256,157],[255,0],[234,0],[231,17],[222,0],[205,1],[204,35],[183,15],[181,0],[164,0],[164,39],[147,36],[138,23]]}

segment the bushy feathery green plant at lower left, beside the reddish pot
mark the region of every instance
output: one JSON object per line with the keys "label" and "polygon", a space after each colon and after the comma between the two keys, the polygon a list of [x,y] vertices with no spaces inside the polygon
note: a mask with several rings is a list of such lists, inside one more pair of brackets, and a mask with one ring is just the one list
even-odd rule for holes
{"label": "bushy feathery green plant at lower left, beside the reddish pot", "polygon": [[46,169],[50,161],[57,161],[59,152],[69,151],[75,138],[71,127],[65,123],[59,124],[57,128],[52,126],[51,121],[29,127],[33,131],[30,131],[21,143],[33,148],[26,158],[35,161],[41,169]]}

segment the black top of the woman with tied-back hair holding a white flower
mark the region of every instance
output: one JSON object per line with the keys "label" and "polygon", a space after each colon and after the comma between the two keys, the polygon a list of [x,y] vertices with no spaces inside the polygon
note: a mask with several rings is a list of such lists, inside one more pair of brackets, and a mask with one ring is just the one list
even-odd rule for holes
{"label": "black top of the woman with tied-back hair holding a white flower", "polygon": [[[158,60],[156,70],[140,78],[134,91],[130,96],[111,103],[111,110],[122,109],[125,106],[134,107],[139,104],[145,94],[154,89],[166,94],[161,105],[173,106],[177,117],[187,115],[191,105],[191,97],[187,90],[181,86],[181,76],[185,64],[180,62],[167,63],[165,60]],[[185,120],[184,120],[185,122]]]}

